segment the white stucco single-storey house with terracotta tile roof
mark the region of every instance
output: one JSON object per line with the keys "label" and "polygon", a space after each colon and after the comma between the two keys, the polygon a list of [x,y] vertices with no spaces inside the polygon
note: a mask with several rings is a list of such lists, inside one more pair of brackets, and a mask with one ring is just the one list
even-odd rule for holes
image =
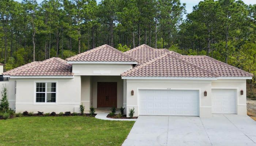
{"label": "white stucco single-storey house with terracotta tile roof", "polygon": [[135,108],[139,115],[246,115],[246,79],[253,74],[207,56],[141,45],[120,52],[108,45],[65,60],[50,58],[3,73],[16,112],[79,112]]}

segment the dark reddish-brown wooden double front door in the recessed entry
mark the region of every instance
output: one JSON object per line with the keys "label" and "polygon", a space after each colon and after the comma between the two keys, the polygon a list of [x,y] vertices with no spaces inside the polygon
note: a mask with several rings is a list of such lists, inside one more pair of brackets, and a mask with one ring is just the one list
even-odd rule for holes
{"label": "dark reddish-brown wooden double front door in the recessed entry", "polygon": [[97,108],[117,107],[117,82],[98,82]]}

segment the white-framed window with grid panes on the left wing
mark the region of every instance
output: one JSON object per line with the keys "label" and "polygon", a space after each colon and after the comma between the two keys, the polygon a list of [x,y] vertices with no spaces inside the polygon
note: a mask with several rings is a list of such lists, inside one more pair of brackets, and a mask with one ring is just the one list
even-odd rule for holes
{"label": "white-framed window with grid panes on the left wing", "polygon": [[36,82],[35,102],[56,103],[56,82]]}

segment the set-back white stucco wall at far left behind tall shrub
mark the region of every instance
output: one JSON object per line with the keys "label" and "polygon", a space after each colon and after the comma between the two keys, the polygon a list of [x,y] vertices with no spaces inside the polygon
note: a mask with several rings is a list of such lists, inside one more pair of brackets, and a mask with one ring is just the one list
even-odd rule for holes
{"label": "set-back white stucco wall at far left behind tall shrub", "polygon": [[[10,81],[1,81],[0,82],[0,92],[3,90],[3,86],[7,88],[7,98],[9,101],[9,107],[14,110],[15,109],[15,80],[10,79]],[[0,99],[2,96],[0,95]]]}

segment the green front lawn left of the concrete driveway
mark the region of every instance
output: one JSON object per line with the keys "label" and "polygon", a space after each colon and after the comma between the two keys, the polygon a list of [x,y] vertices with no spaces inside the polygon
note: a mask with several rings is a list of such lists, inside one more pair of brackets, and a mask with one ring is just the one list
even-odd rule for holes
{"label": "green front lawn left of the concrete driveway", "polygon": [[120,146],[133,124],[84,116],[19,117],[0,120],[0,145]]}

